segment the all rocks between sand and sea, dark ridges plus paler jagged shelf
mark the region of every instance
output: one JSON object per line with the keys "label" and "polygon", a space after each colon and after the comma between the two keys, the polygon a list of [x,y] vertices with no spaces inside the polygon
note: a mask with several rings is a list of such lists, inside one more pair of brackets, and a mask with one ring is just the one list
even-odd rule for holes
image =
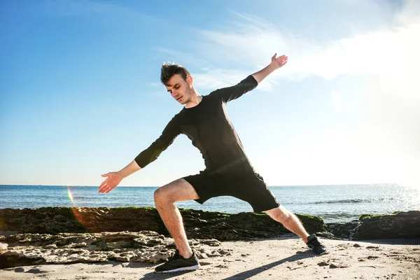
{"label": "all rocks between sand and sea, dark ridges plus paler jagged shelf", "polygon": [[[220,241],[288,233],[265,214],[180,211],[199,258],[229,255]],[[420,211],[362,215],[328,225],[318,216],[297,216],[308,232],[326,238],[420,238]],[[6,231],[19,233],[0,235],[0,269],[43,263],[159,262],[175,249],[158,211],[150,207],[0,209],[0,234]]]}

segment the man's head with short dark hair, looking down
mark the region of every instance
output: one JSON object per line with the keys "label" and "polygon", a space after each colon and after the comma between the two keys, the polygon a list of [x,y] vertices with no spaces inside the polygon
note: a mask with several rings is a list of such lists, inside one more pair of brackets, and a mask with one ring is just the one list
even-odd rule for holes
{"label": "man's head with short dark hair, looking down", "polygon": [[160,80],[177,102],[187,104],[191,101],[195,92],[193,78],[185,67],[179,64],[162,64]]}

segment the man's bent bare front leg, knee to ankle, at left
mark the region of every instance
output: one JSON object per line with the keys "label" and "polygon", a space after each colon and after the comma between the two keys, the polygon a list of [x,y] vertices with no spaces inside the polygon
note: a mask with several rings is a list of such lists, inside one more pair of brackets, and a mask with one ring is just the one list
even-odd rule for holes
{"label": "man's bent bare front leg, knee to ankle, at left", "polygon": [[197,200],[198,198],[200,197],[193,186],[184,179],[178,179],[155,190],[156,209],[158,209],[160,218],[165,223],[167,230],[174,238],[176,248],[183,258],[190,258],[193,251],[188,244],[182,216],[175,202]]}

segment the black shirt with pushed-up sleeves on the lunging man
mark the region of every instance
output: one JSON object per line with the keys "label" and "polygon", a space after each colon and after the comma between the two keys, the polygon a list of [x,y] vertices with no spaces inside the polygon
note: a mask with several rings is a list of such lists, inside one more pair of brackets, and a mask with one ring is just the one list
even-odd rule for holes
{"label": "black shirt with pushed-up sleeves on the lunging man", "polygon": [[202,153],[208,172],[224,174],[253,171],[235,127],[226,113],[225,104],[253,90],[257,85],[258,82],[250,75],[237,85],[203,96],[197,106],[188,109],[184,107],[168,123],[162,135],[137,155],[135,161],[139,167],[146,167],[179,134],[186,134]]}

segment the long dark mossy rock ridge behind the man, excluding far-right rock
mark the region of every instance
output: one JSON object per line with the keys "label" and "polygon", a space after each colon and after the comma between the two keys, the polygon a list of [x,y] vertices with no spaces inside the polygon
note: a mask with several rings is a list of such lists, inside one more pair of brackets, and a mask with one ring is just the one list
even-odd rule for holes
{"label": "long dark mossy rock ridge behind the man, excluding far-right rock", "polygon": [[[188,238],[246,240],[279,237],[289,233],[266,214],[223,214],[180,209]],[[297,215],[308,232],[325,231],[321,217]],[[69,208],[0,209],[0,231],[19,233],[140,232],[151,230],[169,237],[155,208]]]}

